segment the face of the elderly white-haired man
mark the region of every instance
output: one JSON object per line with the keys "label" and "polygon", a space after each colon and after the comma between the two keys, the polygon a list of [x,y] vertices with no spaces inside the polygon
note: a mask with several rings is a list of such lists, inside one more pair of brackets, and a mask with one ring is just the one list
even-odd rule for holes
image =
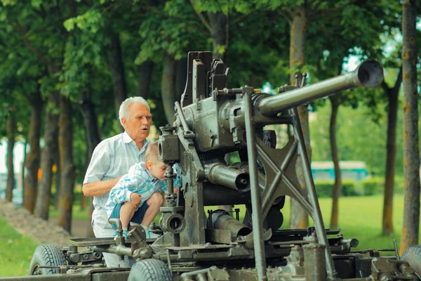
{"label": "face of the elderly white-haired man", "polygon": [[122,118],[124,129],[133,141],[140,143],[149,136],[149,128],[152,124],[152,115],[146,105],[132,103],[128,106],[128,120]]}

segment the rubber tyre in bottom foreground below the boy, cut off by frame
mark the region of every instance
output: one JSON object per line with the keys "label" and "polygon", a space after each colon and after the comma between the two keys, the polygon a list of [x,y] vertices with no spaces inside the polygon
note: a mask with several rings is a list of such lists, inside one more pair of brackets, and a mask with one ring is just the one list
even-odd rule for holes
{"label": "rubber tyre in bottom foreground below the boy, cut off by frame", "polygon": [[131,268],[128,281],[172,281],[173,274],[166,263],[158,259],[142,259]]}

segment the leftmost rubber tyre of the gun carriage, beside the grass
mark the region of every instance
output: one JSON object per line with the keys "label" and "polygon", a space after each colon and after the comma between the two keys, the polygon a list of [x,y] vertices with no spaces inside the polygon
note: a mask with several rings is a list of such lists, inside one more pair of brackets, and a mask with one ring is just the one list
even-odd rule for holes
{"label": "leftmost rubber tyre of the gun carriage, beside the grass", "polygon": [[[60,273],[58,268],[39,268],[36,266],[67,266],[65,254],[57,245],[45,244],[36,247],[29,265],[29,275],[48,275]],[[34,272],[36,270],[36,272]]]}

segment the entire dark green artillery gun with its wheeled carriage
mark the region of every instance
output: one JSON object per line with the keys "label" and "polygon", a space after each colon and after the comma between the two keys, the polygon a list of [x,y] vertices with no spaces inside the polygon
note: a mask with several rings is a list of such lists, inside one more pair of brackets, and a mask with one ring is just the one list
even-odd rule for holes
{"label": "entire dark green artillery gun with its wheeled carriage", "polygon": [[[420,279],[418,248],[410,248],[402,259],[396,246],[391,256],[380,256],[382,250],[375,249],[352,251],[358,240],[325,228],[296,108],[356,86],[378,86],[383,79],[379,63],[368,60],[353,72],[310,86],[298,79],[274,96],[250,86],[227,89],[229,68],[222,60],[213,60],[210,52],[190,52],[187,71],[185,91],[175,103],[175,122],[161,127],[159,137],[159,158],[168,164],[166,204],[157,227],[163,235],[146,239],[145,230],[135,226],[128,232],[129,241],[120,228],[115,241],[73,239],[63,249],[42,245],[27,278],[42,274],[43,280]],[[268,124],[293,126],[293,136],[282,148],[276,147],[276,132],[265,130]],[[238,152],[241,162],[225,161],[232,152]],[[179,194],[173,188],[176,163],[182,170]],[[279,229],[285,196],[301,204],[314,227]],[[204,207],[227,204],[245,205],[243,222],[238,209],[235,218],[218,209],[206,216]],[[88,248],[79,251],[81,247]],[[137,261],[132,268],[105,268],[102,252]]]}

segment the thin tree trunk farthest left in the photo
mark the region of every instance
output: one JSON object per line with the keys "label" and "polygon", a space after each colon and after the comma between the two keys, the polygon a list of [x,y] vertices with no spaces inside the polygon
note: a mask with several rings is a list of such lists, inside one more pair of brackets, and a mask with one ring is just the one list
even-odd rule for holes
{"label": "thin tree trunk farthest left in the photo", "polygon": [[13,188],[15,188],[15,169],[13,166],[13,148],[15,148],[16,138],[16,107],[12,106],[9,110],[10,116],[6,122],[6,136],[7,136],[7,185],[6,185],[6,200],[12,202]]}

